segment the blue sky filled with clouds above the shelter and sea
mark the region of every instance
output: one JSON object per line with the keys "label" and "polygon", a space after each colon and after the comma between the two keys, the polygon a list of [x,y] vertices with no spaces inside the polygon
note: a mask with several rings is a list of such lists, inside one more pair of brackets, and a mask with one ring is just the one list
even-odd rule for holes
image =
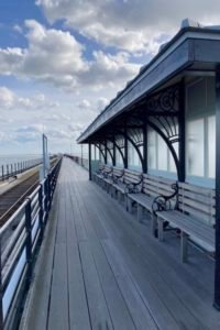
{"label": "blue sky filled with clouds above the shelter and sea", "polygon": [[0,155],[78,153],[76,139],[185,18],[219,0],[0,0]]}

